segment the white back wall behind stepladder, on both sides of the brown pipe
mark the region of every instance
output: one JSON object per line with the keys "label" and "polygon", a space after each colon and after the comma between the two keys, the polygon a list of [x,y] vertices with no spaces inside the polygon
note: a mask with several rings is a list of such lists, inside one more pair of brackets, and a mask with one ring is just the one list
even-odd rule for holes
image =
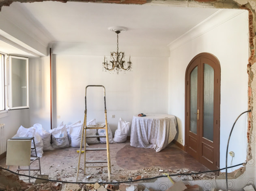
{"label": "white back wall behind stepladder, on both sides of the brown pipe", "polygon": [[[168,112],[168,57],[131,57],[133,71],[102,71],[102,56],[53,55],[53,127],[84,119],[87,85],[106,88],[108,122],[114,133],[120,117],[131,122],[137,113]],[[49,57],[30,59],[30,125],[50,128]],[[87,120],[104,122],[102,88],[88,88]],[[115,115],[115,118],[112,118]]]}

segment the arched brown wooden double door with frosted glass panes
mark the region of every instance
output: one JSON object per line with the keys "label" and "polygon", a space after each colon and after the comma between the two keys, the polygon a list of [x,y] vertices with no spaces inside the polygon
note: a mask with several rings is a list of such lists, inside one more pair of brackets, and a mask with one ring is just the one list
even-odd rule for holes
{"label": "arched brown wooden double door with frosted glass panes", "polygon": [[219,168],[220,65],[210,53],[194,57],[185,76],[185,151]]}

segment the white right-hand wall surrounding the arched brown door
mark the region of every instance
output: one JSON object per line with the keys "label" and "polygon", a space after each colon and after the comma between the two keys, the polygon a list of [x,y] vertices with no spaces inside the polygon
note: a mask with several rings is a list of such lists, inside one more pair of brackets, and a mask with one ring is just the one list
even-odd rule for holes
{"label": "white right-hand wall surrounding the arched brown door", "polygon": [[[220,168],[225,166],[226,144],[234,120],[247,110],[248,13],[241,11],[226,22],[205,31],[198,27],[198,35],[178,47],[170,46],[169,58],[169,113],[176,115],[179,135],[185,140],[185,71],[193,57],[200,52],[215,55],[221,65],[220,104]],[[193,32],[193,31],[192,31]],[[191,32],[191,33],[192,33]],[[189,36],[189,33],[186,35]],[[182,41],[182,39],[180,39]],[[229,151],[234,151],[233,164],[246,159],[247,117],[237,122],[230,139]],[[184,145],[184,142],[181,143]],[[228,157],[230,165],[231,157]]]}

